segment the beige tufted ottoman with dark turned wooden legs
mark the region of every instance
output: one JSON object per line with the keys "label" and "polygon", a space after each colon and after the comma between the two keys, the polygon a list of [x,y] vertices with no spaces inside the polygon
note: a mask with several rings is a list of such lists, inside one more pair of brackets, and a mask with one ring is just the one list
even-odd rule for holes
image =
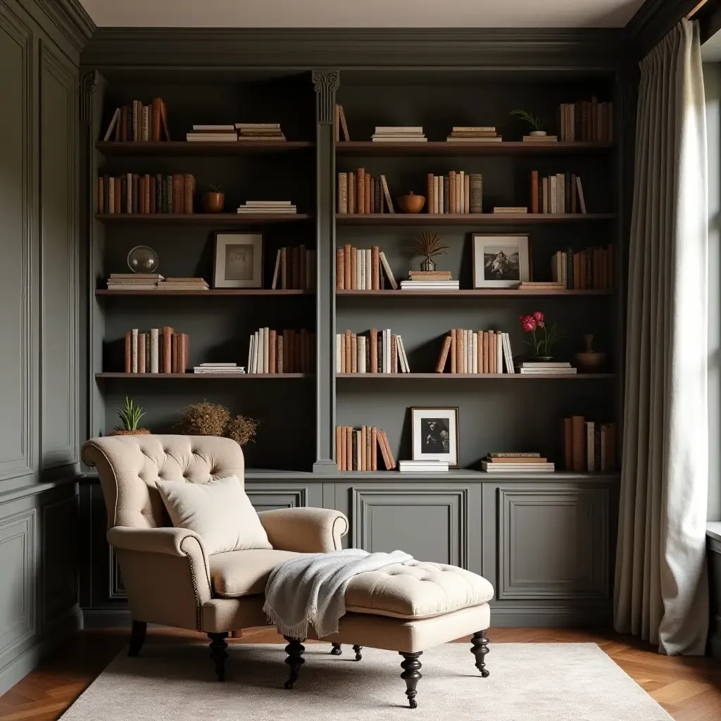
{"label": "beige tufted ottoman with dark turned wooden legs", "polygon": [[[403,657],[401,678],[406,682],[406,696],[415,709],[421,678],[419,658],[428,648],[473,634],[471,652],[476,668],[481,676],[488,676],[484,658],[492,597],[493,587],[485,578],[456,566],[420,561],[388,566],[350,580],[345,591],[346,614],[338,632],[322,640],[332,642],[335,655],[342,653],[342,644],[353,645],[357,661],[363,646],[397,651]],[[309,638],[318,638],[312,628]],[[291,689],[305,662],[305,639],[286,636],[286,640],[291,673],[285,686]]]}

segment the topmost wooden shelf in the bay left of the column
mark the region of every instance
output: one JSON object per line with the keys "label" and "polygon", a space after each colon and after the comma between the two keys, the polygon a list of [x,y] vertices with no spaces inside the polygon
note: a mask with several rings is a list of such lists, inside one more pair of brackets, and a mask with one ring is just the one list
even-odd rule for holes
{"label": "topmost wooden shelf in the bay left of the column", "polygon": [[283,153],[313,148],[309,141],[236,141],[231,143],[115,143],[98,141],[95,148],[105,156],[208,157]]}

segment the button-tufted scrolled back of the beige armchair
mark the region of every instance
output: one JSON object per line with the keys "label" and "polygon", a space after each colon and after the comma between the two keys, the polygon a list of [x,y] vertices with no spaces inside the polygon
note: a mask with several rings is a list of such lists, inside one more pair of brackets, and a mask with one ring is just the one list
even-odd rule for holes
{"label": "button-tufted scrolled back of the beige armchair", "polygon": [[243,451],[214,435],[108,435],[91,438],[82,460],[97,469],[108,528],[171,526],[157,480],[207,483],[236,475],[243,482]]}

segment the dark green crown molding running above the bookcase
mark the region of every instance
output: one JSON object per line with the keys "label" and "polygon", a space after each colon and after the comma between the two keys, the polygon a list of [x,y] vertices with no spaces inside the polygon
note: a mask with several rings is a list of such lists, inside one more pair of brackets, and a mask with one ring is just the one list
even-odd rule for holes
{"label": "dark green crown molding running above the bookcase", "polygon": [[609,68],[623,28],[101,27],[81,63],[110,68]]}

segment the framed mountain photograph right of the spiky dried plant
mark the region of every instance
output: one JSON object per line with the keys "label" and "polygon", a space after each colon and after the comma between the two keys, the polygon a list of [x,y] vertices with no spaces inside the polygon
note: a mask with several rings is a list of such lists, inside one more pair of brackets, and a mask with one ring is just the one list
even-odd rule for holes
{"label": "framed mountain photograph right of the spiky dried plant", "polygon": [[531,280],[527,235],[473,234],[473,287],[513,288]]}

